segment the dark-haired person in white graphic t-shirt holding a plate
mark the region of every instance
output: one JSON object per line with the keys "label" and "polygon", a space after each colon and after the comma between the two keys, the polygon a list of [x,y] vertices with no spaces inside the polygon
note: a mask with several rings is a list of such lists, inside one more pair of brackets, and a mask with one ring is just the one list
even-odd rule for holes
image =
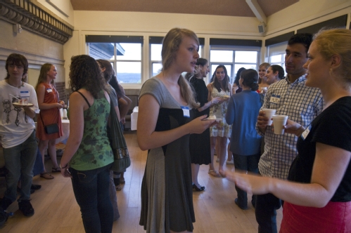
{"label": "dark-haired person in white graphic t-shirt holding a plate", "polygon": [[[0,210],[6,210],[17,199],[20,180],[18,207],[23,215],[32,216],[34,209],[30,204],[30,187],[38,147],[33,118],[39,113],[39,108],[34,88],[22,81],[27,70],[25,56],[12,53],[6,60],[6,78],[0,81],[0,136],[8,171]],[[19,100],[20,105],[14,105]]]}

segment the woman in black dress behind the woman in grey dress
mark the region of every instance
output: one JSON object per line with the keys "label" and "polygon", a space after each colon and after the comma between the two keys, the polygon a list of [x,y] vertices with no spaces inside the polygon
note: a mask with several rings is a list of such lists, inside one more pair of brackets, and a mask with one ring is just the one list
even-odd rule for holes
{"label": "woman in black dress behind the woman in grey dress", "polygon": [[[208,88],[206,87],[205,78],[210,72],[208,66],[208,60],[205,58],[198,58],[196,62],[196,70],[193,74],[186,74],[186,79],[189,80],[191,86],[193,87],[194,93],[196,93],[196,101],[200,103],[200,107],[195,109],[195,117],[203,116],[207,114],[210,115],[210,107],[212,102],[218,101],[218,98],[213,98],[208,101]],[[201,164],[211,163],[211,148],[210,148],[210,128],[206,129],[201,134],[191,134],[190,135],[190,156],[191,156],[191,178],[193,180],[193,189],[196,191],[203,191],[204,186],[200,186],[198,183],[198,171]],[[214,171],[215,168],[212,167],[210,170]]]}

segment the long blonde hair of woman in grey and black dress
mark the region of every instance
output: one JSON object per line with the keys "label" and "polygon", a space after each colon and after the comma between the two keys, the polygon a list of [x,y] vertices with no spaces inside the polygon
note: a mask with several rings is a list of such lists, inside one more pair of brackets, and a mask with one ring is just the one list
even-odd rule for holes
{"label": "long blonde hair of woman in grey and black dress", "polygon": [[[179,50],[181,41],[186,36],[190,37],[191,39],[194,39],[196,41],[196,44],[198,45],[200,44],[198,42],[198,36],[196,36],[196,34],[189,29],[180,29],[175,27],[170,29],[170,32],[166,34],[165,38],[162,41],[162,51],[161,51],[162,71],[170,68],[170,66],[172,65],[172,62],[174,62],[177,56],[177,51]],[[183,97],[184,100],[191,107],[194,107],[194,108],[200,107],[198,102],[196,102],[195,93],[193,93],[193,90],[189,85],[189,82],[186,81],[184,76],[182,75],[179,76],[178,85],[180,87],[181,97]]]}

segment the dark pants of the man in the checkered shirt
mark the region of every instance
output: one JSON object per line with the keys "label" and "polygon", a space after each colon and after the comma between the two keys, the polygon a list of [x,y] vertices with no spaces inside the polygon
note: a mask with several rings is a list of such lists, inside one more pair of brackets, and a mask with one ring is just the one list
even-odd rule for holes
{"label": "dark pants of the man in the checkered shirt", "polygon": [[273,194],[257,195],[255,215],[259,233],[276,233],[276,210],[281,208],[281,199]]}

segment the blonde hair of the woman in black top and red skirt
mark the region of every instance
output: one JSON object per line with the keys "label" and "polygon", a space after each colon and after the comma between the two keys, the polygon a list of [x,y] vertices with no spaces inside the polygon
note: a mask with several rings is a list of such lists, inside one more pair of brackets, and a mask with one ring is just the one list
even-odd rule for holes
{"label": "blonde hair of the woman in black top and red skirt", "polygon": [[[338,67],[340,79],[351,86],[351,30],[350,29],[321,29],[314,34],[317,50],[325,59],[337,54],[341,57]],[[333,70],[331,70],[333,75]]]}

